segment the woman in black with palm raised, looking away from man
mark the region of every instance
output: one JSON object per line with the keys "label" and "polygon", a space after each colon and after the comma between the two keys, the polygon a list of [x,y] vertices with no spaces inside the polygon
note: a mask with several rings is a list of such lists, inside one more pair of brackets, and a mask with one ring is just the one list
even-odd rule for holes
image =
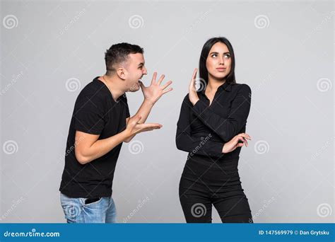
{"label": "woman in black with palm raised, looking away from man", "polygon": [[251,90],[235,81],[235,56],[226,38],[207,40],[199,60],[200,90],[194,70],[177,122],[177,149],[189,152],[180,180],[187,223],[211,223],[212,204],[222,222],[252,223],[237,170],[247,146],[245,126]]}

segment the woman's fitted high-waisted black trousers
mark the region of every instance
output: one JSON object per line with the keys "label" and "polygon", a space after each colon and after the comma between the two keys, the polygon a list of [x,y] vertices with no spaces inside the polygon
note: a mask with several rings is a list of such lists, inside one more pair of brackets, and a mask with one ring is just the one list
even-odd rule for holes
{"label": "woman's fitted high-waisted black trousers", "polygon": [[187,223],[211,223],[212,205],[223,223],[253,223],[237,170],[238,159],[189,156],[179,188]]}

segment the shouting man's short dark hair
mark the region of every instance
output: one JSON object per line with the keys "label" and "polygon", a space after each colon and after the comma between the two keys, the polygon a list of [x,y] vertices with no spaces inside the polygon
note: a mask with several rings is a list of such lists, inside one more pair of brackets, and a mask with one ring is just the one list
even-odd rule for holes
{"label": "shouting man's short dark hair", "polygon": [[131,45],[126,42],[112,45],[105,52],[106,74],[110,75],[116,71],[115,64],[127,61],[129,54],[143,54],[143,52],[143,48],[139,45]]}

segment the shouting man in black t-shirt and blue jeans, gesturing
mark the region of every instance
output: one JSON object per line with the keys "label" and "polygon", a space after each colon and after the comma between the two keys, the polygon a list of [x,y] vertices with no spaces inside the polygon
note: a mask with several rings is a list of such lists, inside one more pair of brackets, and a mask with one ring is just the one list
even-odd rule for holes
{"label": "shouting man in black t-shirt and blue jeans, gesturing", "polygon": [[[164,75],[150,86],[141,78],[147,74],[143,49],[119,43],[105,52],[106,74],[97,76],[79,93],[74,105],[66,143],[65,167],[61,178],[61,206],[68,223],[113,223],[116,209],[112,180],[122,142],[136,134],[160,129],[145,124],[155,102],[172,91],[172,81],[161,86]],[[143,92],[143,103],[129,117],[126,92]]]}

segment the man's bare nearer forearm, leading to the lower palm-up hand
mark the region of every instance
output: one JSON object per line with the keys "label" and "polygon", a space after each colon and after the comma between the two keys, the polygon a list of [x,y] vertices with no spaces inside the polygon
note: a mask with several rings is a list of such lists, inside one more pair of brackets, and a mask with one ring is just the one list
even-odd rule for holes
{"label": "man's bare nearer forearm, leading to the lower palm-up hand", "polygon": [[124,140],[129,139],[130,134],[127,129],[120,132],[119,134],[115,134],[112,137],[107,139],[99,139],[94,142],[88,149],[85,150],[85,154],[83,154],[83,159],[80,162],[81,164],[89,163],[95,159],[104,156],[109,151],[114,149],[118,144],[124,142]]}

